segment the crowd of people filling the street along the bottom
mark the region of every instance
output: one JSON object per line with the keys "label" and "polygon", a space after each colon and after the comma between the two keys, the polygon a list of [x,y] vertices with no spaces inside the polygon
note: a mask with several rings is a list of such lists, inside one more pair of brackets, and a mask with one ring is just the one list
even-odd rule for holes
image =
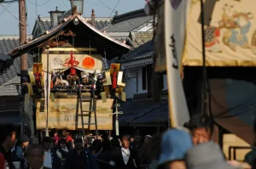
{"label": "crowd of people filling the street along the bottom", "polygon": [[22,135],[17,143],[15,127],[0,126],[0,169],[236,169],[256,168],[252,161],[227,161],[218,144],[211,141],[211,118],[192,118],[184,127],[153,137],[122,134],[98,139],[61,136],[32,143]]}

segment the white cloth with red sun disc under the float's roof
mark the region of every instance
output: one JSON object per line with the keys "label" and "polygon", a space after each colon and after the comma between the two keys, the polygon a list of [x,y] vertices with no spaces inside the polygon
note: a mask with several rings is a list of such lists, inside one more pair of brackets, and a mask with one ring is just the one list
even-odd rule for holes
{"label": "white cloth with red sun disc under the float's roof", "polygon": [[[71,54],[49,54],[49,72],[53,70],[67,70]],[[102,71],[102,56],[99,54],[73,54],[74,67],[89,73]],[[47,70],[47,54],[42,54],[43,70]]]}

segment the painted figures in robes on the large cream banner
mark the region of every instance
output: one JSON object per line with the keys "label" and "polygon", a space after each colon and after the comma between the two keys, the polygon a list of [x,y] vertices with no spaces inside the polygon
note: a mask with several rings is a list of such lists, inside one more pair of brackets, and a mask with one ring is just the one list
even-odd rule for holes
{"label": "painted figures in robes on the large cream banner", "polygon": [[218,38],[222,33],[222,42],[232,51],[236,52],[236,47],[251,48],[248,42],[248,32],[251,28],[253,14],[237,12],[234,5],[225,3],[223,7],[222,19],[211,21],[211,25],[205,30],[205,47],[208,52],[221,53],[220,41]]}

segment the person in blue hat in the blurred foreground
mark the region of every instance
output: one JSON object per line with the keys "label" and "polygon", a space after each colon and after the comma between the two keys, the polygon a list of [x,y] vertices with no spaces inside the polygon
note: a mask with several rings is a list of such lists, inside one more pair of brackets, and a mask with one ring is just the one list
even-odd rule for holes
{"label": "person in blue hat in the blurred foreground", "polygon": [[161,139],[160,157],[156,163],[158,169],[186,168],[186,152],[193,147],[189,132],[183,129],[170,129]]}

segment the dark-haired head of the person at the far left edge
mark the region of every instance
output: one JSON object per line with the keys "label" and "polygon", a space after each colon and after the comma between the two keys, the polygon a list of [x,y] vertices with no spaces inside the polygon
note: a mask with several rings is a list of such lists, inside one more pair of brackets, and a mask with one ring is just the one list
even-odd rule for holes
{"label": "dark-haired head of the person at the far left edge", "polygon": [[12,149],[16,143],[15,127],[12,124],[3,124],[0,126],[0,143],[5,149]]}

